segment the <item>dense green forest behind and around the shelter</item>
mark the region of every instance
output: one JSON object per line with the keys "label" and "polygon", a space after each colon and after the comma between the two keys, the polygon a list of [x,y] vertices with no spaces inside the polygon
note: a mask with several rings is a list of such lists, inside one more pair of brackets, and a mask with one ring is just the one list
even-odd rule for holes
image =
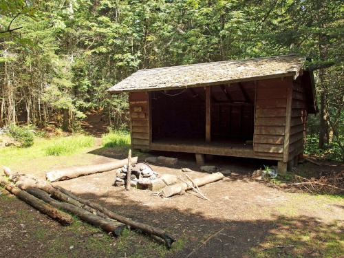
{"label": "dense green forest behind and around the shelter", "polygon": [[0,127],[80,130],[87,111],[128,127],[138,69],[300,54],[319,113],[306,153],[344,159],[343,1],[0,0]]}

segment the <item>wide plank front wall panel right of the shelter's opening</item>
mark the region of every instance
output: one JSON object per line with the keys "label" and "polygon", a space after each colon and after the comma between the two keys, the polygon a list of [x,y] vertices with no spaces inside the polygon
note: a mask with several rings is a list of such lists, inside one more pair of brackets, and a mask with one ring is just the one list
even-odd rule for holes
{"label": "wide plank front wall panel right of the shelter's opening", "polygon": [[257,158],[283,160],[288,87],[292,77],[257,81],[253,151]]}

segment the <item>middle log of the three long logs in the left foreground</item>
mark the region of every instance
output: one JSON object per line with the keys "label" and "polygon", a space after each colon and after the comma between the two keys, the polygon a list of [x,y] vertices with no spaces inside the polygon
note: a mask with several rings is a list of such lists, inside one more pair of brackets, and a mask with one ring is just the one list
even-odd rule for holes
{"label": "middle log of the three long logs in the left foreground", "polygon": [[74,206],[72,204],[68,204],[65,202],[58,202],[57,200],[54,200],[52,197],[50,197],[50,195],[47,192],[41,189],[30,188],[27,191],[31,195],[34,195],[35,197],[43,200],[44,202],[47,202],[48,204],[56,208],[61,208],[65,211],[68,211],[69,213],[72,213],[78,216],[84,222],[87,222],[89,224],[92,224],[93,226],[102,228],[106,232],[113,233],[114,235],[118,236],[120,235],[120,232],[122,231],[122,224],[111,221],[109,219],[104,219],[103,217],[99,217],[98,215],[89,213],[88,211],[85,211],[83,208]]}

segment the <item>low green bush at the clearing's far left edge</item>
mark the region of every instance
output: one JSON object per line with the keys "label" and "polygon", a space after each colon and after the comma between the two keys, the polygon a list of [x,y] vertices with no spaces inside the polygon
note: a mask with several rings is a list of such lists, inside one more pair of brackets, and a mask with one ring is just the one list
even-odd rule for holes
{"label": "low green bush at the clearing's far left edge", "polygon": [[34,144],[34,127],[18,127],[12,125],[8,127],[8,134],[19,143],[19,147],[28,148]]}

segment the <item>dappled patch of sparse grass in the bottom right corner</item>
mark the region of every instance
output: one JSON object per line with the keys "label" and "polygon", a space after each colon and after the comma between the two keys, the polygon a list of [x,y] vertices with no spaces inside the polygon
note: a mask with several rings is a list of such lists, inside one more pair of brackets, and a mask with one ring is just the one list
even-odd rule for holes
{"label": "dappled patch of sparse grass in the bottom right corner", "polygon": [[311,219],[281,218],[266,240],[251,248],[250,257],[340,257],[344,234],[340,226]]}

